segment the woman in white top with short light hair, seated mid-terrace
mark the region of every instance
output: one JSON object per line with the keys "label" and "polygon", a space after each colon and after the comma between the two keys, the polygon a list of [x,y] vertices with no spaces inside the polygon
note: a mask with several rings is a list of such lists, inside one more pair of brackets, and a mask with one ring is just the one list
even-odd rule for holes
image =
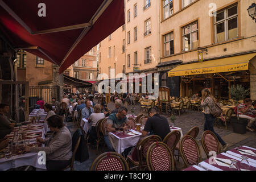
{"label": "woman in white top with short light hair, seated mid-terrace", "polygon": [[101,113],[101,105],[96,104],[93,108],[94,113],[90,114],[90,117],[88,119],[88,122],[92,122],[92,127],[90,128],[89,131],[89,142],[90,143],[95,143],[96,138],[97,138],[97,133],[96,133],[96,123],[100,120],[105,118],[104,113]]}

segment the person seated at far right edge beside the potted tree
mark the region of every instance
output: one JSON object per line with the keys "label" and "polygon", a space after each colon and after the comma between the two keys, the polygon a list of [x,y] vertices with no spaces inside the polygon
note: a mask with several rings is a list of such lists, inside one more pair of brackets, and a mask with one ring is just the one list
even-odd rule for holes
{"label": "person seated at far right edge beside the potted tree", "polygon": [[240,118],[249,119],[248,125],[246,129],[253,132],[254,129],[252,128],[255,122],[255,114],[251,112],[251,99],[246,98],[243,100],[243,104],[238,105],[238,114]]}

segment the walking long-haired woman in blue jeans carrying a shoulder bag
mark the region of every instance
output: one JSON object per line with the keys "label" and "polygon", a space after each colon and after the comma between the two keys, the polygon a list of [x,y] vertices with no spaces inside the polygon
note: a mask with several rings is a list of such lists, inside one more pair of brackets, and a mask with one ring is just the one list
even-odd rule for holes
{"label": "walking long-haired woman in blue jeans carrying a shoulder bag", "polygon": [[212,131],[220,143],[222,144],[222,150],[226,150],[228,147],[228,144],[224,142],[224,140],[221,139],[221,137],[214,131],[213,129],[213,123],[215,121],[215,117],[210,113],[210,108],[214,106],[214,103],[216,102],[216,99],[212,96],[210,91],[208,89],[202,90],[202,101],[201,101],[201,107],[204,109],[204,131],[210,130]]}

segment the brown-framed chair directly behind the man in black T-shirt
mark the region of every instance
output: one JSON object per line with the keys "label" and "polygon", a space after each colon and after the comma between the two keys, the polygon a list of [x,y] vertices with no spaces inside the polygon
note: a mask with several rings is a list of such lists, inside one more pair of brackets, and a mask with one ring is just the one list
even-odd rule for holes
{"label": "brown-framed chair directly behind the man in black T-shirt", "polygon": [[138,161],[133,160],[131,155],[128,155],[127,158],[129,162],[131,162],[134,166],[139,167],[141,171],[142,168],[147,167],[146,157],[147,150],[151,146],[152,143],[162,142],[162,139],[158,135],[150,135],[148,137],[143,138],[141,141],[137,143],[137,158]]}

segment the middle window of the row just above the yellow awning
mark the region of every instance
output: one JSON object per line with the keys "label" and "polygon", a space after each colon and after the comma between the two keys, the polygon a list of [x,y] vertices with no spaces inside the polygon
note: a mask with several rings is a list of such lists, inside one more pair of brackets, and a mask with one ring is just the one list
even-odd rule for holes
{"label": "middle window of the row just above the yellow awning", "polygon": [[183,51],[189,51],[199,46],[198,23],[191,23],[183,28]]}

